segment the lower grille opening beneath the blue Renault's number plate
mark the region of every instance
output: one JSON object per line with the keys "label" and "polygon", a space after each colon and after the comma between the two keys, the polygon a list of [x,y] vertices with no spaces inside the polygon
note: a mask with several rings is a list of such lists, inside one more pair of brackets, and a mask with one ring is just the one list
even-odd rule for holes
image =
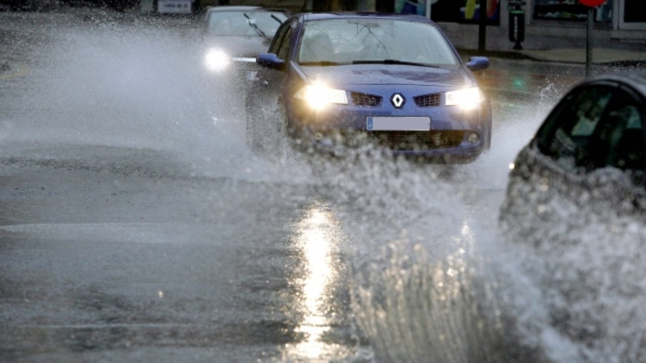
{"label": "lower grille opening beneath the blue Renault's number plate", "polygon": [[392,150],[433,150],[457,147],[464,140],[463,130],[373,131],[370,136]]}

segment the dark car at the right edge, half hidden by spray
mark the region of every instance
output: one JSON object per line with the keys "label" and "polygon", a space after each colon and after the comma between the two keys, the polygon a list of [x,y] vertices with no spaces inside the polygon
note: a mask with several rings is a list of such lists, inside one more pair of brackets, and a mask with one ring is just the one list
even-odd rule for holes
{"label": "dark car at the right edge, half hidden by spray", "polygon": [[644,71],[600,76],[570,90],[510,165],[503,229],[542,244],[559,228],[563,234],[574,233],[568,232],[574,225],[587,228],[594,216],[610,223],[611,216],[643,214],[645,121]]}

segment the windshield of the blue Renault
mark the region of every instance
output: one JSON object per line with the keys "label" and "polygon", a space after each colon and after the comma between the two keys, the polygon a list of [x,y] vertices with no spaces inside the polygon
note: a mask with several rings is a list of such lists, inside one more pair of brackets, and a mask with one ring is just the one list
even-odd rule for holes
{"label": "windshield of the blue Renault", "polygon": [[310,21],[298,50],[298,63],[395,61],[457,65],[457,57],[435,26],[391,19]]}

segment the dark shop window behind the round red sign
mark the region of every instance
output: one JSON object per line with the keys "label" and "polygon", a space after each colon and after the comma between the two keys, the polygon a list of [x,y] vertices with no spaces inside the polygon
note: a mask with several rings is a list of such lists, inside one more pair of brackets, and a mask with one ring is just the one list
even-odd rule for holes
{"label": "dark shop window behind the round red sign", "polygon": [[[595,21],[612,21],[612,1],[607,0],[594,9]],[[588,8],[579,0],[534,0],[534,19],[585,20],[587,17]]]}

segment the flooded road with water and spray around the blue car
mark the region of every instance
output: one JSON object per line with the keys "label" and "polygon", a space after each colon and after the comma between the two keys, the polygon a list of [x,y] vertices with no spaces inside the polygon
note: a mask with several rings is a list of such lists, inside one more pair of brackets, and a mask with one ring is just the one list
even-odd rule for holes
{"label": "flooded road with water and spray around the blue car", "polygon": [[554,357],[480,292],[508,165],[581,68],[492,60],[472,164],[275,159],[245,146],[191,19],[6,13],[0,32],[3,361]]}

